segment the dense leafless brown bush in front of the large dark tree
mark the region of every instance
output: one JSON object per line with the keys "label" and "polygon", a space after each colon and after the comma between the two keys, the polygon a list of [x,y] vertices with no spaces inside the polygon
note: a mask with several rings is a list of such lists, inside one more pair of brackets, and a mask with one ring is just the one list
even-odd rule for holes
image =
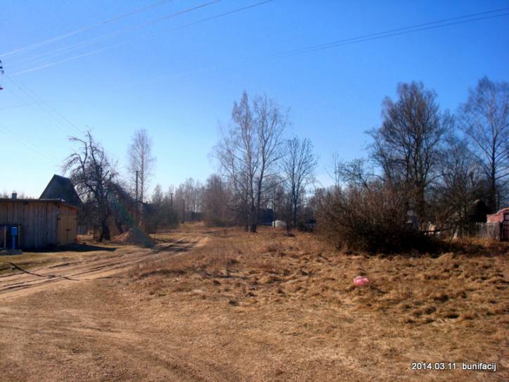
{"label": "dense leafless brown bush in front of the large dark tree", "polygon": [[330,189],[318,201],[318,230],[337,247],[368,253],[430,250],[406,200],[406,190],[377,182]]}

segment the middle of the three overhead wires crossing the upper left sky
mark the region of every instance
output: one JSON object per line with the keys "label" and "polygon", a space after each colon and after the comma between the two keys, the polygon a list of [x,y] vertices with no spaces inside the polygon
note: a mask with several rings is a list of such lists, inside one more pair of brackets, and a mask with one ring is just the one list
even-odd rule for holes
{"label": "middle of the three overhead wires crossing the upper left sky", "polygon": [[103,41],[105,39],[110,39],[112,37],[117,37],[117,36],[119,36],[121,34],[129,32],[131,30],[138,30],[138,29],[143,28],[143,27],[148,27],[150,25],[154,25],[156,23],[160,23],[161,21],[169,20],[170,18],[174,18],[176,16],[183,15],[185,13],[189,13],[189,12],[192,12],[192,11],[196,11],[197,9],[204,8],[205,6],[210,6],[212,4],[219,3],[219,1],[222,1],[222,0],[210,1],[210,2],[205,3],[205,4],[200,4],[200,5],[194,6],[192,8],[184,9],[183,11],[179,11],[179,12],[176,12],[176,13],[171,13],[169,15],[165,15],[165,16],[162,16],[160,18],[155,18],[153,20],[149,20],[148,22],[145,22],[145,23],[138,23],[136,25],[132,25],[131,27],[125,27],[125,28],[123,28],[121,30],[117,30],[115,32],[110,32],[110,33],[107,33],[107,34],[103,34],[102,36],[94,37],[93,39],[88,39],[88,40],[84,40],[82,42],[77,42],[75,44],[71,44],[70,46],[63,46],[62,48],[55,49],[53,51],[49,51],[49,52],[46,52],[46,53],[42,53],[42,54],[39,54],[38,56],[25,58],[23,60],[11,63],[11,67],[13,65],[16,66],[16,65],[20,65],[20,64],[26,63],[26,62],[29,62],[31,64],[38,63],[38,62],[44,61],[46,58],[51,58],[51,57],[54,57],[54,56],[60,56],[61,54],[65,53],[65,52],[73,51],[73,50],[82,48],[84,46],[89,46],[89,45],[92,45],[92,44],[96,44],[96,43],[101,42],[101,41]]}

